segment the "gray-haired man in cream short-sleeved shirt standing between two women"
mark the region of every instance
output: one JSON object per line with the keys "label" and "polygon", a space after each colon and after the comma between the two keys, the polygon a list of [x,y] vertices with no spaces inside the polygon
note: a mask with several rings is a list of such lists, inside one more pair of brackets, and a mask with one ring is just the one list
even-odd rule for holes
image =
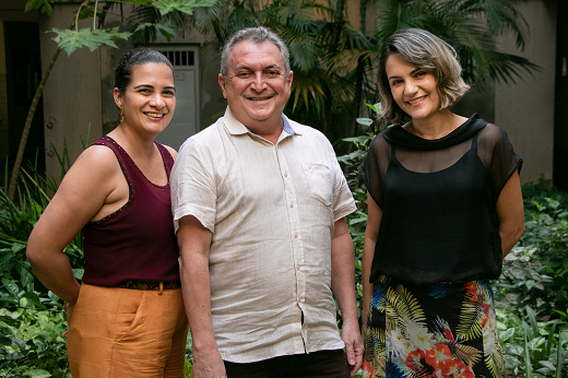
{"label": "gray-haired man in cream short-sleeved shirt standing between two women", "polygon": [[293,72],[277,35],[237,32],[221,67],[225,116],[184,143],[170,178],[193,377],[353,376],[355,203],[333,149],[283,115]]}

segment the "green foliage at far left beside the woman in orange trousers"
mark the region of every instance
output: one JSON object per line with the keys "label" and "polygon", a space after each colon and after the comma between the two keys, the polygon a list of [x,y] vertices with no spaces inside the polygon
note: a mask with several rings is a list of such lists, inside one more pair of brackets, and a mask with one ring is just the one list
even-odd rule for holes
{"label": "green foliage at far left beside the woman in orange trousers", "polygon": [[[67,377],[64,314],[59,298],[34,276],[25,258],[27,237],[48,202],[44,182],[33,175],[24,180],[16,206],[0,188],[0,374],[7,377]],[[66,251],[72,261],[82,260],[75,243]],[[73,259],[74,257],[74,259]],[[79,267],[79,265],[78,265]],[[78,275],[82,275],[79,269]]]}

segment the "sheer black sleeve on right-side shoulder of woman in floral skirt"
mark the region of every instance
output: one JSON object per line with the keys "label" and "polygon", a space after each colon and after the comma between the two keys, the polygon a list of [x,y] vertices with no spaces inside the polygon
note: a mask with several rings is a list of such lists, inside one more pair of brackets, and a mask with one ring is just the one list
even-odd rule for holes
{"label": "sheer black sleeve on right-side shoulder of woman in floral skirt", "polygon": [[507,133],[492,123],[480,132],[478,155],[489,173],[497,201],[509,178],[514,172],[521,172],[522,158],[514,153]]}

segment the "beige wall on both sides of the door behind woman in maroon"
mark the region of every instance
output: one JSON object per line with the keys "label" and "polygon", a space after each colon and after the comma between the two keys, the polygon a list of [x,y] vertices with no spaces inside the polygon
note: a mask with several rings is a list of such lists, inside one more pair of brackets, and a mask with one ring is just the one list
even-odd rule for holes
{"label": "beige wall on both sides of the door behind woman in maroon", "polygon": [[[1,0],[0,0],[1,1]],[[52,17],[43,16],[40,31],[51,27],[69,27],[72,12],[78,4],[54,4]],[[107,19],[107,27],[119,26],[118,19]],[[91,21],[80,23],[81,27],[92,27]],[[51,40],[55,34],[42,36],[42,64],[45,70],[56,49]],[[187,31],[170,44],[202,46],[204,37]],[[86,138],[91,123],[90,141],[93,142],[117,125],[117,109],[113,99],[114,68],[120,57],[132,48],[127,40],[116,40],[118,48],[103,46],[91,52],[87,48],[75,50],[71,57],[64,51],[59,56],[44,93],[44,117],[46,132],[46,170],[59,177],[60,165],[50,146],[50,140],[59,152],[67,139],[71,163],[83,151],[80,137]],[[155,44],[167,44],[156,40]],[[225,110],[226,103],[217,84],[218,52],[213,44],[199,52],[200,59],[200,111],[201,129],[212,123],[215,115]],[[48,128],[51,127],[51,129]]]}

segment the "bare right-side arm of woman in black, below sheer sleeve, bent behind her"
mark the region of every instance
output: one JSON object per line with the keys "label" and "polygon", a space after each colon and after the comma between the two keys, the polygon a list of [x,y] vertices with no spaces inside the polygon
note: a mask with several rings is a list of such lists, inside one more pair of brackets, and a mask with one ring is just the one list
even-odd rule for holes
{"label": "bare right-side arm of woman in black, below sheer sleeve, bent behind her", "polygon": [[502,188],[496,208],[499,218],[501,251],[505,258],[524,234],[524,208],[518,172],[509,178]]}

